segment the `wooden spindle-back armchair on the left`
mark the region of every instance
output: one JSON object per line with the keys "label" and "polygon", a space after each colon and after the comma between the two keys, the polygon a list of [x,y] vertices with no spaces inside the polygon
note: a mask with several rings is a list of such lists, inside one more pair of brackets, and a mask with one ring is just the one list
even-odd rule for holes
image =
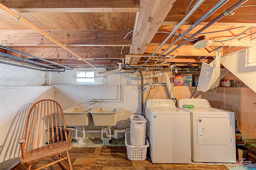
{"label": "wooden spindle-back armchair on the left", "polygon": [[[28,113],[25,135],[18,140],[22,151],[20,163],[27,165],[26,170],[30,170],[32,163],[56,156],[56,160],[36,170],[57,162],[64,169],[72,170],[68,150],[73,148],[71,140],[74,130],[66,128],[63,111],[58,102],[50,99],[36,102]],[[62,156],[64,152],[66,155]],[[62,160],[68,162],[68,168]]]}

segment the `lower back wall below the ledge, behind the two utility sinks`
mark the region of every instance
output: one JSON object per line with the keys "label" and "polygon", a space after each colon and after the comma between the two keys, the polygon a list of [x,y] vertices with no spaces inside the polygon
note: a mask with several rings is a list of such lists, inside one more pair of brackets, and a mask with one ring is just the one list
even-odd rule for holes
{"label": "lower back wall below the ledge, behind the two utility sinks", "polygon": [[[54,86],[54,99],[60,103],[63,109],[72,106],[90,106],[91,98],[117,99],[118,86],[115,85],[62,85]],[[140,114],[140,90],[137,86],[122,86],[122,102],[96,102],[92,107],[120,107],[118,113],[118,129],[130,127],[130,115]],[[93,122],[86,127],[86,130],[98,130],[102,127],[95,127]]]}

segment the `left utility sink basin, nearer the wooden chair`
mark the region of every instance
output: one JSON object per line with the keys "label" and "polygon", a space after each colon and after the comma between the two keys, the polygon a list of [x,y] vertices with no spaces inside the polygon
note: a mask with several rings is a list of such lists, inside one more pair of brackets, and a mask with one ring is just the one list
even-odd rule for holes
{"label": "left utility sink basin, nearer the wooden chair", "polygon": [[67,126],[87,126],[92,121],[90,111],[94,107],[69,107],[63,110]]}

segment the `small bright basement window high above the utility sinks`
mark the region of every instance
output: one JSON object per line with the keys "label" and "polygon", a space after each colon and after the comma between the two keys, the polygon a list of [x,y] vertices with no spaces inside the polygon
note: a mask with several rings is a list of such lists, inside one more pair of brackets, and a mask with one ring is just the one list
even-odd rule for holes
{"label": "small bright basement window high above the utility sinks", "polygon": [[104,84],[104,77],[96,77],[103,70],[77,70],[75,84]]}

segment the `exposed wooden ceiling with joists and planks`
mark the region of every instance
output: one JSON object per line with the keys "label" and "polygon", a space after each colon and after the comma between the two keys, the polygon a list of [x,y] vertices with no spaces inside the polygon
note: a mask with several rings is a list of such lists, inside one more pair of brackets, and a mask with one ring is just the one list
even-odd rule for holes
{"label": "exposed wooden ceiling with joists and planks", "polygon": [[[204,3],[192,14],[188,20],[181,25],[180,32],[184,33],[193,23],[208,12],[219,0],[205,0]],[[237,1],[236,1],[237,2]],[[235,1],[228,1],[224,6],[208,17],[195,29],[189,32],[193,34],[204,25],[208,24],[224,10],[233,6]],[[1,1],[16,14],[49,34],[66,47],[72,49],[88,61],[98,60],[96,65],[116,64],[112,61],[125,59],[126,63],[141,65],[145,62],[143,55],[152,54],[164,39],[168,32],[177,25],[183,18],[190,1],[188,0],[33,0]],[[193,1],[191,6],[196,1]],[[254,4],[254,5],[253,5]],[[234,15],[225,16],[222,20],[214,23],[205,31],[208,39],[212,40],[210,47],[206,49],[194,48],[196,41],[187,42],[170,54],[177,55],[176,64],[184,65],[190,63],[190,59],[197,59],[199,56],[215,56],[215,52],[209,53],[220,46],[223,55],[237,53],[248,47],[256,45],[256,0],[249,0],[243,7],[238,8]],[[249,6],[248,6],[249,5]],[[11,47],[31,55],[51,60],[61,60],[61,63],[77,63],[85,66],[76,59],[74,55],[61,49],[48,40],[46,37],[36,33],[27,25],[15,20],[0,10],[0,45]],[[187,12],[188,13],[188,12]],[[239,27],[238,29],[232,29]],[[244,30],[254,27],[244,33]],[[232,29],[232,30],[229,30]],[[130,33],[130,31],[132,31]],[[228,30],[224,31],[223,30]],[[166,33],[159,33],[166,32]],[[240,33],[242,33],[240,35]],[[186,35],[188,38],[190,35]],[[203,35],[203,34],[202,34]],[[200,36],[200,35],[198,35]],[[195,40],[198,36],[194,37]],[[126,38],[125,38],[126,37]],[[177,36],[174,37],[174,40]],[[214,42],[216,40],[226,40]],[[162,52],[172,41],[172,37],[166,44],[156,52],[156,56]],[[169,50],[182,43],[184,39],[176,42]],[[239,46],[239,47],[238,47]],[[27,57],[18,53],[4,50],[18,57]],[[167,51],[168,52],[168,51]],[[126,56],[125,55],[137,55]],[[185,58],[183,58],[185,56]],[[147,57],[146,57],[147,59]],[[155,57],[150,59],[149,64],[158,66]],[[160,62],[164,62],[164,58]],[[180,59],[180,60],[179,60]],[[71,60],[71,61],[70,61]],[[101,61],[99,61],[101,60]],[[78,62],[74,62],[78,61]],[[180,63],[178,62],[180,61]],[[101,63],[102,62],[102,63]],[[173,63],[169,60],[162,66]],[[210,60],[206,61],[210,62]],[[93,61],[92,64],[95,62]],[[184,63],[184,64],[182,64]],[[196,64],[196,61],[193,63]],[[190,64],[189,66],[192,66]],[[75,65],[74,65],[75,66]]]}

